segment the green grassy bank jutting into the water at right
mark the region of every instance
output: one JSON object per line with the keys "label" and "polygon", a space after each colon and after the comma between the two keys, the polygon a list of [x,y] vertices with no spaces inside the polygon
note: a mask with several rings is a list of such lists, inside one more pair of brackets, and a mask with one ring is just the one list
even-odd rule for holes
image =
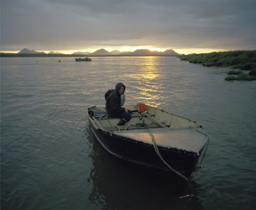
{"label": "green grassy bank jutting into the water at right", "polygon": [[[225,80],[256,80],[256,50],[237,50],[181,55],[180,60],[203,66],[231,67],[242,72],[229,73]],[[249,71],[249,72],[248,72]]]}

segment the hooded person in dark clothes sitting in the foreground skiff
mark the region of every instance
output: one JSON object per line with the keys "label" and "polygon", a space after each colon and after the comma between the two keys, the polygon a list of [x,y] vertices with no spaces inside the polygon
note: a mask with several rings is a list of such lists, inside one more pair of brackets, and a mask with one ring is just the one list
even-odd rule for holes
{"label": "hooded person in dark clothes sitting in the foreground skiff", "polygon": [[115,90],[109,90],[105,93],[107,117],[120,118],[117,125],[124,125],[131,119],[129,110],[121,107],[121,95],[123,95],[124,92],[125,85],[120,82],[116,84]]}

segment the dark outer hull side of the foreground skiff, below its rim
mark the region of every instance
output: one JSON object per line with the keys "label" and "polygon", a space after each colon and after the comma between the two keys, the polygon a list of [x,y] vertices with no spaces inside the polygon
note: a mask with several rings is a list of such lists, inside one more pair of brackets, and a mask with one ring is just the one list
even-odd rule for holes
{"label": "dark outer hull side of the foreground skiff, below its rim", "polygon": [[[126,138],[116,133],[100,129],[95,126],[93,120],[90,118],[89,122],[96,139],[111,155],[134,162],[135,164],[144,165],[160,171],[168,171],[173,174],[158,157],[153,144]],[[162,146],[158,146],[158,149],[168,165],[182,175],[191,178],[197,170],[198,160],[201,154]]]}

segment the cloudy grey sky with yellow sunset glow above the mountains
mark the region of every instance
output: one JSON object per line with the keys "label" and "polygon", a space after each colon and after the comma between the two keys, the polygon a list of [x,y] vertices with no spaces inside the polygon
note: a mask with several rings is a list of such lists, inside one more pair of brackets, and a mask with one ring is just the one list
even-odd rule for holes
{"label": "cloudy grey sky with yellow sunset glow above the mountains", "polygon": [[255,23],[255,0],[1,0],[0,50],[255,50]]}

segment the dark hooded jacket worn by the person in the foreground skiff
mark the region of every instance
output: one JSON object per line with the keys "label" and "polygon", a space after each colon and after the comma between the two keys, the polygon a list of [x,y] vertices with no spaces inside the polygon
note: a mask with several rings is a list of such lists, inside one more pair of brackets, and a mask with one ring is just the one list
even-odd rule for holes
{"label": "dark hooded jacket worn by the person in the foreground skiff", "polygon": [[117,83],[115,90],[107,91],[108,95],[105,95],[107,117],[116,117],[118,114],[125,112],[125,108],[120,105],[121,98],[119,90],[121,87],[125,88],[125,85],[123,83]]}

